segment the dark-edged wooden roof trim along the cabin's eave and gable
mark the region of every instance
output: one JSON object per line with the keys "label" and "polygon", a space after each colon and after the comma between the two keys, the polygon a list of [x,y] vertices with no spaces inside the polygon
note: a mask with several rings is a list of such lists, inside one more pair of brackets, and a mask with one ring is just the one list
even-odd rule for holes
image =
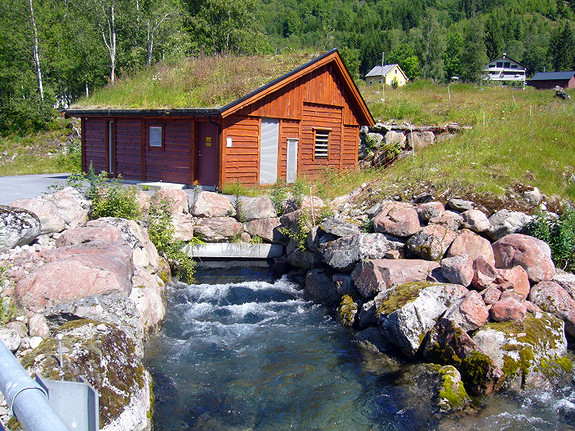
{"label": "dark-edged wooden roof trim along the cabin's eave and gable", "polygon": [[339,73],[340,78],[344,82],[347,90],[349,91],[349,96],[351,102],[356,108],[357,112],[360,114],[365,125],[373,125],[375,121],[369,108],[365,103],[359,89],[357,88],[355,82],[353,81],[351,75],[349,74],[347,68],[345,67],[341,56],[339,55],[337,49],[332,49],[314,58],[307,63],[299,66],[290,72],[276,78],[267,84],[264,84],[254,91],[247,93],[246,95],[229,102],[223,107],[198,107],[198,108],[186,108],[186,107],[176,107],[176,108],[158,108],[158,109],[138,109],[138,108],[121,108],[121,107],[98,107],[98,108],[71,108],[64,111],[67,117],[70,116],[153,116],[153,117],[165,117],[165,116],[222,116],[227,117],[234,112],[242,109],[248,104],[251,104],[268,94],[290,84],[291,82],[297,80],[301,76],[309,73],[310,71],[322,67],[328,63],[332,63],[335,66],[335,70]]}

